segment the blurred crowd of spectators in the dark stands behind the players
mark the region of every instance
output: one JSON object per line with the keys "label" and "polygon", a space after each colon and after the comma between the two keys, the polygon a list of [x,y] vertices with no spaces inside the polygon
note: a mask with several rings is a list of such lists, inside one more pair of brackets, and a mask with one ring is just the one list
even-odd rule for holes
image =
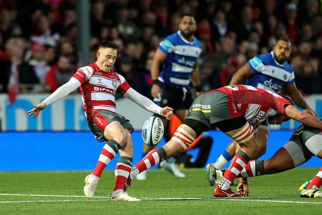
{"label": "blurred crowd of spectators in the dark stands behind the players", "polygon": [[[19,93],[53,92],[67,82],[77,59],[76,0],[0,1],[0,93],[12,71]],[[318,0],[101,0],[90,1],[90,62],[101,40],[120,46],[114,70],[145,96],[149,68],[160,41],[193,15],[201,41],[198,60],[204,91],[229,83],[249,59],[272,50],[276,38],[292,40],[289,63],[303,94],[322,93],[322,13]]]}

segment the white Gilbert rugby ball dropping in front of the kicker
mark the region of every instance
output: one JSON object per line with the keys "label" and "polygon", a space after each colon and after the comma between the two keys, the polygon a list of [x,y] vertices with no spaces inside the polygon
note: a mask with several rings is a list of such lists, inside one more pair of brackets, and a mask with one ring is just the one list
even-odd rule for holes
{"label": "white Gilbert rugby ball dropping in front of the kicker", "polygon": [[142,139],[147,146],[153,147],[157,145],[164,133],[163,122],[159,117],[151,116],[143,124]]}

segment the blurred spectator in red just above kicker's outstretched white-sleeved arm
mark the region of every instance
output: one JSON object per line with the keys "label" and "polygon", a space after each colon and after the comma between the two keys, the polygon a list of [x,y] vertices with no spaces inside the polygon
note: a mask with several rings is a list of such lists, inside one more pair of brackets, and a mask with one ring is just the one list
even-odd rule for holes
{"label": "blurred spectator in red just above kicker's outstretched white-sleeved arm", "polygon": [[58,87],[68,82],[73,74],[73,67],[69,59],[65,56],[60,56],[57,65],[53,65],[46,74],[45,90],[50,93],[54,92]]}

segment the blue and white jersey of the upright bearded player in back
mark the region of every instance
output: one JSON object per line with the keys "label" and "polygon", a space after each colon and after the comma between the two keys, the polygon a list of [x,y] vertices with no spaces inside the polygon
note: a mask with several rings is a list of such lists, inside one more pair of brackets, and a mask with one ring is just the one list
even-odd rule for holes
{"label": "blue and white jersey of the upright bearded player in back", "polygon": [[193,37],[193,42],[189,42],[178,31],[161,41],[158,49],[167,55],[158,80],[172,87],[188,87],[191,72],[201,53],[197,38]]}

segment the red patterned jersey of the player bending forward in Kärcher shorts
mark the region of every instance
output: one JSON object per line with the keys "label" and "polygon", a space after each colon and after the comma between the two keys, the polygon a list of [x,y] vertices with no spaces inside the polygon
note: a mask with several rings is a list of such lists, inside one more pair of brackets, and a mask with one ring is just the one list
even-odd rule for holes
{"label": "red patterned jersey of the player bending forward in K\u00e4rcher shorts", "polygon": [[236,108],[238,108],[255,131],[268,117],[285,115],[284,106],[291,105],[290,101],[274,92],[248,85],[230,85],[215,91],[227,94],[233,101],[228,103],[230,115],[237,114]]}

